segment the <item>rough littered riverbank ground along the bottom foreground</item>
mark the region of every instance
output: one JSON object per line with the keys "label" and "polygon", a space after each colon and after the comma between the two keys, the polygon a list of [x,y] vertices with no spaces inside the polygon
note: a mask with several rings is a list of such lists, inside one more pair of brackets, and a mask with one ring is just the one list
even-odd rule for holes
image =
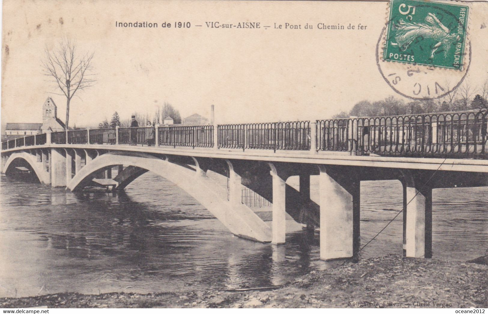
{"label": "rough littered riverbank ground along the bottom foreground", "polygon": [[1,308],[483,308],[488,266],[398,255],[312,271],[269,291],[55,293],[0,298]]}

